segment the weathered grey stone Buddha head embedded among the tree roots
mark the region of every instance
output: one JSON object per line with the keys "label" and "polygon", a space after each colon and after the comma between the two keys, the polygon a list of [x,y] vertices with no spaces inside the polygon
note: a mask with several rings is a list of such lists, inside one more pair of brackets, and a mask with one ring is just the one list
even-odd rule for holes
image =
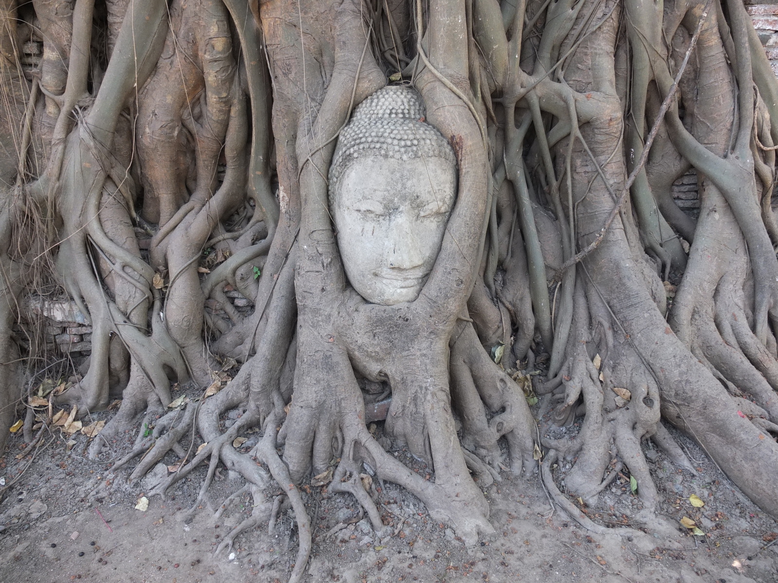
{"label": "weathered grey stone Buddha head embedded among the tree roots", "polygon": [[343,267],[374,304],[419,297],[454,206],[454,149],[424,119],[415,89],[379,89],[354,110],[332,160],[330,209]]}

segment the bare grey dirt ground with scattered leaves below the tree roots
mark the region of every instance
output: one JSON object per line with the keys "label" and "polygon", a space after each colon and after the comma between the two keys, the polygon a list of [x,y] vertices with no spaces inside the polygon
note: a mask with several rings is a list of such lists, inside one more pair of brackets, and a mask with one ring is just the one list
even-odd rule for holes
{"label": "bare grey dirt ground with scattered leaves below the tree roots", "polygon": [[[231,411],[223,422],[229,425],[240,413]],[[374,431],[380,431],[378,425]],[[263,522],[238,536],[231,550],[214,553],[230,529],[251,515],[247,492],[214,518],[226,497],[244,486],[242,478],[220,468],[208,492],[209,503],[202,504],[190,522],[186,510],[197,498],[205,466],[171,488],[166,500],[152,497],[148,509],[140,511],[135,509],[138,498],[154,485],[153,476],[159,480],[167,470],[160,464],[152,477],[136,484],[128,484],[126,469],[110,473],[110,459],[128,451],[131,436],[125,445],[121,440],[112,444],[114,451],[105,459],[90,461],[86,435],[65,435],[61,428],[45,431],[34,452],[24,447],[22,431],[12,435],[0,459],[0,478],[5,480],[0,480],[0,581],[288,579],[297,550],[291,510],[282,511],[272,535]],[[501,482],[487,488],[496,532],[472,548],[433,522],[417,498],[392,484],[382,487],[373,480],[371,487],[384,523],[394,527],[394,534],[383,539],[377,539],[352,497],[305,485],[314,525],[307,581],[778,581],[778,524],[748,501],[689,438],[674,435],[698,464],[699,475],[676,469],[644,444],[664,496],[664,523],[640,524],[627,518],[638,514],[628,514],[638,504],[629,477],[620,476],[601,495],[598,507],[586,508],[596,522],[613,527],[606,535],[580,528],[559,508],[552,511],[537,474],[527,481],[503,474]],[[258,435],[245,437],[240,451],[249,452]],[[426,472],[422,464],[406,459],[406,452],[395,454]],[[175,456],[169,457],[164,463],[172,465]],[[556,471],[565,470],[562,463]],[[268,500],[275,493],[268,489]],[[691,494],[705,502],[702,508],[690,504]],[[694,520],[704,536],[683,527],[678,521],[684,516]],[[619,536],[620,525],[646,534]]]}

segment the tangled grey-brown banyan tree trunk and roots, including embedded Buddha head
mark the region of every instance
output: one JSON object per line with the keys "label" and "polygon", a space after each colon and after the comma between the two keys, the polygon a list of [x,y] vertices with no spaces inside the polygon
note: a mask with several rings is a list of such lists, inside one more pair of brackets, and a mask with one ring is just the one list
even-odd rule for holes
{"label": "tangled grey-brown banyan tree trunk and roots, including embedded Buddha head", "polygon": [[162,495],[225,465],[238,531],[281,487],[294,581],[311,477],[471,544],[500,474],[603,530],[577,506],[628,471],[650,529],[645,443],[695,471],[669,426],[778,517],[778,81],[741,0],[3,0],[0,50],[2,435],[46,296],[92,326],[46,398],[121,398],[89,456],[176,456]]}

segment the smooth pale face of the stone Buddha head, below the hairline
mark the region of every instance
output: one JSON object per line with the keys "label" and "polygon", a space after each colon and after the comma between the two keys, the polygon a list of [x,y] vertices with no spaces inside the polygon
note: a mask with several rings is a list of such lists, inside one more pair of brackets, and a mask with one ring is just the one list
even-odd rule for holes
{"label": "smooth pale face of the stone Buddha head, below the hairline", "polygon": [[383,305],[419,296],[440,252],[456,180],[454,164],[440,158],[370,156],[345,169],[331,210],[359,295]]}

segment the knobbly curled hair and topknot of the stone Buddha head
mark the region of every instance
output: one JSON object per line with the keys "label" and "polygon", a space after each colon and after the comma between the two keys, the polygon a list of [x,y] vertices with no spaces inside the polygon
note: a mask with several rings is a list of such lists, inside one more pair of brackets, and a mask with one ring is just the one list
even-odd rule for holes
{"label": "knobbly curled hair and topknot of the stone Buddha head", "polygon": [[454,148],[424,122],[422,96],[408,86],[386,86],[356,106],[338,138],[330,166],[330,191],[354,160],[369,156],[410,160],[441,158],[456,164]]}

